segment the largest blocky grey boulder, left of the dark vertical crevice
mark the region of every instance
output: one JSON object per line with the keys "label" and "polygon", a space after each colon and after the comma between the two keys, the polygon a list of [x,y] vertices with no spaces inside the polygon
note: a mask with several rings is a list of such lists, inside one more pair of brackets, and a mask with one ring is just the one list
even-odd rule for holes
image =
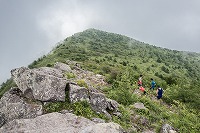
{"label": "largest blocky grey boulder, left of the dark vertical crevice", "polygon": [[65,101],[66,80],[62,71],[42,67],[11,70],[12,78],[25,97],[40,101]]}

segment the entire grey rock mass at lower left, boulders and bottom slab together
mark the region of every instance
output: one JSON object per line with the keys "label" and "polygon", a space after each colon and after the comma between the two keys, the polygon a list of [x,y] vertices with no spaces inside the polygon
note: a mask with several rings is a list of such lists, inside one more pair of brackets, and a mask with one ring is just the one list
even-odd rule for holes
{"label": "entire grey rock mass at lower left, boulders and bottom slab together", "polygon": [[[67,78],[66,74],[73,74],[75,78]],[[68,110],[44,112],[43,105],[64,102],[67,97],[70,103],[87,101],[94,111],[109,119],[112,115],[120,117],[119,104],[96,89],[107,84],[102,75],[83,70],[75,62],[56,63],[54,68],[16,68],[11,70],[11,75],[17,87],[11,88],[0,99],[0,133],[125,132],[117,123],[106,123],[99,118],[89,120]],[[78,80],[84,80],[87,87],[79,86]],[[161,128],[163,133],[173,131],[167,124]]]}

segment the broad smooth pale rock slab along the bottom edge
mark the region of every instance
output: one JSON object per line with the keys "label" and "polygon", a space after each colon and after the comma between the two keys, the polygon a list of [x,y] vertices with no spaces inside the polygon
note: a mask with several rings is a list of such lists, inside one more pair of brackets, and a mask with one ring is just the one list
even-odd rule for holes
{"label": "broad smooth pale rock slab along the bottom edge", "polygon": [[0,128],[0,132],[28,133],[123,133],[116,123],[94,123],[71,113],[49,113],[33,119],[16,119]]}

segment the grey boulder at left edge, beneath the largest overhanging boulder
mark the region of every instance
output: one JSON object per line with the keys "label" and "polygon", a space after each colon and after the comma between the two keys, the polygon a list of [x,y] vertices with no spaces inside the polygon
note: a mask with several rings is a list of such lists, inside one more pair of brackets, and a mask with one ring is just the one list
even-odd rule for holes
{"label": "grey boulder at left edge, beneath the largest overhanging boulder", "polygon": [[[27,103],[22,97],[13,92],[16,88],[11,88],[0,99],[0,125],[13,119],[34,118],[42,115],[42,105],[36,103]],[[17,92],[17,91],[16,91]]]}

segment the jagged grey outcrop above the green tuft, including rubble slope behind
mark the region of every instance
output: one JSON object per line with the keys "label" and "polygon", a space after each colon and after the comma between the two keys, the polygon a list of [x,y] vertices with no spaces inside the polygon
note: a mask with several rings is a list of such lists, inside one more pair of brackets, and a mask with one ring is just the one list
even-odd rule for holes
{"label": "jagged grey outcrop above the green tuft, including rubble slope behind", "polygon": [[[29,99],[42,102],[65,101],[65,90],[68,88],[68,96],[71,103],[86,100],[91,104],[92,109],[98,113],[105,113],[110,117],[106,111],[108,109],[117,114],[118,103],[114,100],[106,99],[105,95],[97,91],[92,85],[106,85],[102,75],[85,71],[77,65],[74,65],[73,70],[64,63],[56,63],[54,67],[41,67],[38,69],[21,67],[11,70],[11,75],[22,95]],[[78,86],[75,83],[76,81],[73,80],[66,81],[63,78],[63,72],[74,73],[76,80],[84,79],[88,88]]]}

